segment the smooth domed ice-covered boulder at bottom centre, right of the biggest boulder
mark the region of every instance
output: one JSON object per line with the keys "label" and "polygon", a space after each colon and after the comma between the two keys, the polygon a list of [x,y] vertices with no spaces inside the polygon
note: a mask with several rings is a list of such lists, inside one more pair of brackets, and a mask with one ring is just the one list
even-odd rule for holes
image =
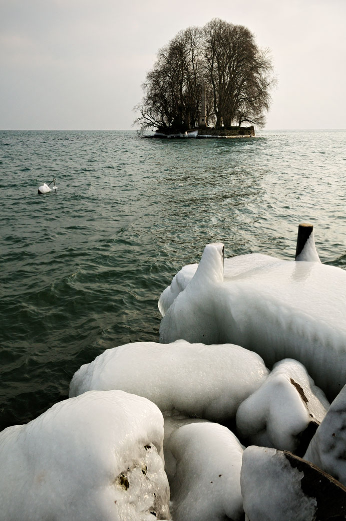
{"label": "smooth domed ice-covered boulder at bottom centre, right of the biggest boulder", "polygon": [[170,450],[177,460],[170,481],[175,521],[243,519],[243,446],[230,430],[214,423],[186,425],[172,434]]}

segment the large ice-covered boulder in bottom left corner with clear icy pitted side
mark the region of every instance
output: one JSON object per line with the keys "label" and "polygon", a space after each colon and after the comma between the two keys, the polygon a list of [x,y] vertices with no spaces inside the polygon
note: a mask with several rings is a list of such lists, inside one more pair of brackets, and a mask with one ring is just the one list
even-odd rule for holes
{"label": "large ice-covered boulder in bottom left corner with clear icy pitted side", "polygon": [[0,518],[169,518],[163,417],[145,398],[91,391],[0,433]]}

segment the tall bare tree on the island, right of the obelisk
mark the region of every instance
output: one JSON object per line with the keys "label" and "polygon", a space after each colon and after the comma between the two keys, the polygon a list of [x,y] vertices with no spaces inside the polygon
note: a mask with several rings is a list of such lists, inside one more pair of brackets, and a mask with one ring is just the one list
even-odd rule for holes
{"label": "tall bare tree on the island, right of the obelisk", "polygon": [[243,26],[213,19],[203,28],[206,75],[213,88],[216,127],[233,122],[263,126],[275,84],[268,49]]}

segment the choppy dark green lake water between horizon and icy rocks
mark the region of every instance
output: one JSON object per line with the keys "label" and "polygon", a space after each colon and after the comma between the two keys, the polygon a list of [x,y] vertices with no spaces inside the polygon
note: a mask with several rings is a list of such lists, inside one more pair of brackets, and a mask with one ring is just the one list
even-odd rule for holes
{"label": "choppy dark green lake water between horizon and icy rocks", "polygon": [[[157,300],[204,245],[292,258],[299,222],[346,266],[346,131],[243,140],[0,131],[0,429],[104,349],[158,341]],[[58,191],[37,195],[57,179]]]}

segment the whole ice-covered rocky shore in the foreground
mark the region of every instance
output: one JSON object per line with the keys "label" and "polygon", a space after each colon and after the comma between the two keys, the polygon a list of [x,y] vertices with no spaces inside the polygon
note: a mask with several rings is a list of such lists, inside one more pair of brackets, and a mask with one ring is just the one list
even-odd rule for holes
{"label": "whole ice-covered rocky shore in the foreground", "polygon": [[313,238],[298,262],[206,246],[159,299],[163,343],[106,350],[0,433],[0,520],[346,516],[345,304]]}

